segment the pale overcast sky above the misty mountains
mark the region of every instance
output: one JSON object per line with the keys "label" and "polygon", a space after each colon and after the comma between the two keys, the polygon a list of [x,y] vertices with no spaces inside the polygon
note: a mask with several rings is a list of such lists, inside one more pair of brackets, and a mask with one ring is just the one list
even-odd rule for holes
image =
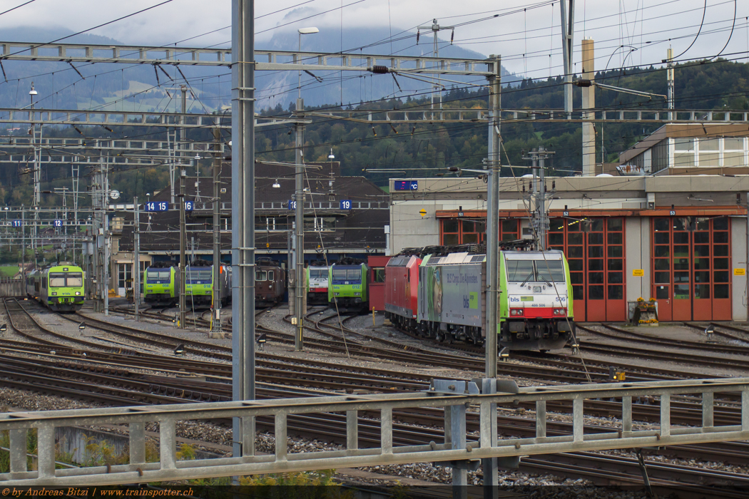
{"label": "pale overcast sky above the misty mountains", "polygon": [[[0,12],[25,1],[0,0]],[[0,15],[0,29],[35,26],[83,31],[160,1],[163,0],[35,0]],[[592,37],[597,70],[622,64],[660,64],[669,44],[674,55],[679,55],[693,42],[704,5],[703,0],[577,0],[575,3],[574,61],[580,59],[580,40],[583,36]],[[456,44],[484,55],[500,54],[503,65],[515,73],[545,78],[549,73],[560,73],[561,69],[559,1],[551,4],[551,1],[530,0],[276,0],[255,4],[258,49],[274,33],[283,30],[317,26],[339,33],[342,25],[348,28],[380,25],[391,26],[395,35],[431,24],[431,19],[437,17],[441,25],[457,25]],[[749,1],[738,0],[736,4],[736,25],[723,53],[730,59],[748,61]],[[729,40],[734,5],[734,0],[707,1],[702,33],[681,60],[712,57],[721,52]],[[499,16],[494,17],[496,14]],[[231,30],[225,28],[230,24],[230,0],[172,0],[89,32],[133,45],[163,45],[197,37],[181,45],[213,46],[231,40]],[[443,31],[440,37],[449,40],[450,32]],[[314,50],[314,35],[308,40],[306,48]],[[362,40],[372,41],[375,40]],[[348,48],[353,47],[345,47]],[[378,49],[387,53],[388,46]]]}

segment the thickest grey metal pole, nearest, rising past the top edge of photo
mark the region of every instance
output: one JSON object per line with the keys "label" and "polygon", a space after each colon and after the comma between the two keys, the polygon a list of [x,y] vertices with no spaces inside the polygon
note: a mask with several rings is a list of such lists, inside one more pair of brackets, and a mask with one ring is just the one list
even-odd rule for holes
{"label": "thickest grey metal pole, nearest, rising past the top edge of photo", "polygon": [[[232,399],[255,399],[255,2],[231,1]],[[234,417],[234,456],[255,455],[255,420]]]}

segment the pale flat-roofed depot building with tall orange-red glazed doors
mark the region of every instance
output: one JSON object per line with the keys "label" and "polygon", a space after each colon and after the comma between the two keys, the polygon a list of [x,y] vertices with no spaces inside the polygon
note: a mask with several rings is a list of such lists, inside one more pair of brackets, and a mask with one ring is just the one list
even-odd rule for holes
{"label": "pale flat-roofed depot building with tall orange-red glazed doors", "polygon": [[[500,179],[500,239],[530,238],[530,180]],[[658,301],[665,321],[747,319],[749,176],[546,180],[548,247],[564,251],[577,321],[628,320],[628,301]],[[552,188],[554,186],[554,188]],[[487,183],[390,181],[391,254],[486,242]]]}

